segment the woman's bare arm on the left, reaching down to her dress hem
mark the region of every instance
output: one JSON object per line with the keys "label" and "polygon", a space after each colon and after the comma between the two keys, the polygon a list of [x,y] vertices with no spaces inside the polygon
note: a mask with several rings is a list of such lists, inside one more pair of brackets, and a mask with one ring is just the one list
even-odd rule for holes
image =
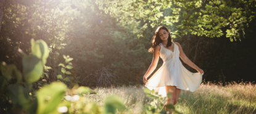
{"label": "woman's bare arm on the left, reaching down to her dress hem", "polygon": [[158,45],[157,47],[155,47],[154,50],[154,56],[153,56],[153,60],[151,65],[149,66],[149,69],[147,70],[146,74],[143,77],[143,81],[144,83],[147,82],[147,77],[149,77],[149,75],[151,75],[151,73],[155,70],[155,68],[157,67],[157,63],[159,61],[159,55],[160,55],[160,49],[161,47]]}

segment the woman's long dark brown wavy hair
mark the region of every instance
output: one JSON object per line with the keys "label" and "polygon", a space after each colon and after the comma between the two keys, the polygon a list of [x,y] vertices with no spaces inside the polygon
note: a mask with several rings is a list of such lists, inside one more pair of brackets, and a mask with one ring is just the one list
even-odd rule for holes
{"label": "woman's long dark brown wavy hair", "polygon": [[169,33],[168,43],[167,43],[166,47],[171,46],[173,40],[171,39],[170,31],[165,26],[159,26],[159,27],[157,27],[157,30],[155,30],[155,35],[153,36],[152,42],[151,42],[152,47],[149,48],[149,52],[154,53],[155,47],[157,47],[157,45],[159,45],[160,43],[163,42],[162,39],[160,39],[160,36],[159,36],[159,31],[162,30],[162,29],[166,30]]}

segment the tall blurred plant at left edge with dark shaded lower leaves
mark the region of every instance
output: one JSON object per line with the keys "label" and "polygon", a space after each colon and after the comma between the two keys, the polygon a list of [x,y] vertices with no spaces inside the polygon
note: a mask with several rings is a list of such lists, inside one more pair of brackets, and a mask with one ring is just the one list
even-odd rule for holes
{"label": "tall blurred plant at left edge with dark shaded lower leaves", "polygon": [[[43,73],[46,59],[49,55],[47,44],[42,41],[34,41],[31,39],[31,54],[25,54],[19,49],[23,62],[23,75],[15,67],[15,65],[6,65],[1,63],[1,78],[4,81],[1,85],[1,99],[4,103],[7,101],[14,105],[17,110],[26,110],[27,113],[35,113],[37,107],[37,100],[33,100],[30,96],[32,83],[38,81]],[[15,74],[12,78],[12,74]],[[16,82],[13,81],[16,79]],[[24,82],[22,81],[24,79]],[[7,89],[7,91],[6,91]],[[2,107],[2,106],[1,106]],[[10,107],[5,107],[10,111]]]}

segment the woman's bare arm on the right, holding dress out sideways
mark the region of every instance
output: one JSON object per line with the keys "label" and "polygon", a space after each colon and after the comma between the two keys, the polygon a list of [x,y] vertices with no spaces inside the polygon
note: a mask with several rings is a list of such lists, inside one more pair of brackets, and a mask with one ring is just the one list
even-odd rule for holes
{"label": "woman's bare arm on the right, holding dress out sideways", "polygon": [[188,59],[188,57],[186,56],[186,54],[184,54],[183,49],[181,47],[181,45],[179,43],[175,43],[177,44],[177,46],[179,47],[180,50],[180,57],[183,60],[184,63],[188,64],[190,67],[196,69],[199,73],[204,73],[204,71],[202,69],[200,69],[199,67],[197,67],[197,65],[195,65],[193,62],[191,62],[191,60]]}

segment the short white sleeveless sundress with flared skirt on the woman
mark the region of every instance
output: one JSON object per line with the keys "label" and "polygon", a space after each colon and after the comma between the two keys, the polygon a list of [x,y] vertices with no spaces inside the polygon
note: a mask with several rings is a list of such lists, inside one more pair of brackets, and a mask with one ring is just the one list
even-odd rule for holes
{"label": "short white sleeveless sundress with flared skirt on the woman", "polygon": [[196,91],[202,82],[203,73],[192,73],[187,70],[180,61],[179,47],[174,44],[173,52],[163,47],[160,43],[160,57],[163,60],[162,67],[147,80],[146,87],[159,96],[166,97],[165,86],[176,86],[186,91]]}

